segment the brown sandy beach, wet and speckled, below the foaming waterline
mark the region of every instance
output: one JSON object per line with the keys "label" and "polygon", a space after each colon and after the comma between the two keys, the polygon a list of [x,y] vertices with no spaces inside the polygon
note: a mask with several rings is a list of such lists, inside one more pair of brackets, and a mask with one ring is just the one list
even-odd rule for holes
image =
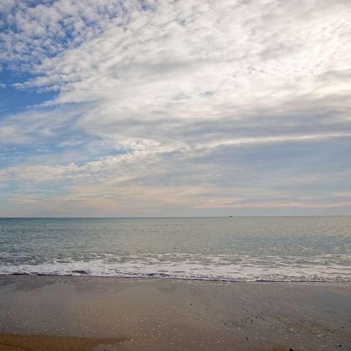
{"label": "brown sandy beach, wet and speckled, below the foaming waterline", "polygon": [[1,276],[0,333],[0,351],[351,350],[351,283]]}

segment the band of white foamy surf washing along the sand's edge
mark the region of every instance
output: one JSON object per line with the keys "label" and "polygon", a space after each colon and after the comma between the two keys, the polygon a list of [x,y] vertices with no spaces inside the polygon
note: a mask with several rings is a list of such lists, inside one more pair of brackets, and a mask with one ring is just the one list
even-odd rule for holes
{"label": "band of white foamy surf washing along the sand's edge", "polygon": [[[331,259],[331,263],[328,261]],[[39,264],[6,264],[0,274],[163,277],[223,281],[351,281],[348,256],[278,257],[202,254],[89,254]]]}

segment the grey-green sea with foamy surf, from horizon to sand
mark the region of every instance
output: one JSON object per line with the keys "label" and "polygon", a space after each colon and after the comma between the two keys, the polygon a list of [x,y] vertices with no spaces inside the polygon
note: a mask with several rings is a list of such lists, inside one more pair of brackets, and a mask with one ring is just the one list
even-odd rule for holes
{"label": "grey-green sea with foamy surf, from horizon to sand", "polygon": [[351,216],[0,218],[0,274],[351,281]]}

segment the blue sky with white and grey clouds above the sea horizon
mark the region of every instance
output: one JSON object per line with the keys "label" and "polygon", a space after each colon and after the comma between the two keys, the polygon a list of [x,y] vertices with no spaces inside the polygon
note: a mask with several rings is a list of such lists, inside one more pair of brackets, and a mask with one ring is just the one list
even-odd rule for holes
{"label": "blue sky with white and grey clouds above the sea horizon", "polygon": [[350,0],[1,0],[0,216],[351,215]]}

